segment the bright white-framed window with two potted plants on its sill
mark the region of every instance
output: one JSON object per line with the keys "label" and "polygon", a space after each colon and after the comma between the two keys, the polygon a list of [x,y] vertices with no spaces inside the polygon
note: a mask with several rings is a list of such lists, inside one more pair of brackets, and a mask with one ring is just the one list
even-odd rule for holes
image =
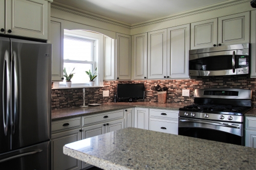
{"label": "bright white-framed window with two potted plants on its sill", "polygon": [[[81,30],[65,30],[63,45],[63,68],[66,68],[67,74],[74,69],[72,78],[72,87],[89,86],[89,77],[85,71],[94,71],[97,67],[97,77],[94,79],[95,86],[100,85],[98,62],[99,40],[93,38],[96,33],[89,33]],[[103,35],[100,35],[103,37]],[[66,80],[60,83],[61,87],[66,87]]]}

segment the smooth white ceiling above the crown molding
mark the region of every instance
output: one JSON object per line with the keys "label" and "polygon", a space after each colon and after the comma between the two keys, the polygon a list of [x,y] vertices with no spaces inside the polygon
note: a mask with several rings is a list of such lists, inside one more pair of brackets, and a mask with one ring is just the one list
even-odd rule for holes
{"label": "smooth white ceiling above the crown molding", "polygon": [[227,0],[54,0],[126,23],[138,23]]}

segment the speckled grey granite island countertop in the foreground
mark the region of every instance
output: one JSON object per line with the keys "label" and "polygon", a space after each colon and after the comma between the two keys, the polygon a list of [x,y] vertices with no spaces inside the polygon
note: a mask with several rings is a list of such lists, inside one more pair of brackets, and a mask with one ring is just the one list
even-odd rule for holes
{"label": "speckled grey granite island countertop in the foreground", "polygon": [[66,144],[63,153],[103,169],[256,169],[256,149],[138,128]]}

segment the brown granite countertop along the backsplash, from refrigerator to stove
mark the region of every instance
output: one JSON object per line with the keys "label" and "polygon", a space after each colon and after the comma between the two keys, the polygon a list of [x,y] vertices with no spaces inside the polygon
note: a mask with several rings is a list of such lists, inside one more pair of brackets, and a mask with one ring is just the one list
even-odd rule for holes
{"label": "brown granite countertop along the backsplash, from refrigerator to stove", "polygon": [[155,108],[165,110],[179,110],[179,108],[186,106],[187,104],[172,104],[172,103],[151,103],[151,102],[134,102],[134,103],[104,103],[100,106],[89,106],[87,108],[67,108],[52,110],[52,121],[60,120],[71,117],[85,116],[90,114],[115,111],[120,109],[128,109],[132,107],[144,107],[144,108]]}

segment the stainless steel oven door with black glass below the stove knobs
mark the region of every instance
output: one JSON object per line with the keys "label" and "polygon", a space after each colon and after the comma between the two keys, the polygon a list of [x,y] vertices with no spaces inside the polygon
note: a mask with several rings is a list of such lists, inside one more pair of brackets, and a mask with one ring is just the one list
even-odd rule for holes
{"label": "stainless steel oven door with black glass below the stove knobs", "polygon": [[244,145],[243,124],[179,117],[178,134]]}

